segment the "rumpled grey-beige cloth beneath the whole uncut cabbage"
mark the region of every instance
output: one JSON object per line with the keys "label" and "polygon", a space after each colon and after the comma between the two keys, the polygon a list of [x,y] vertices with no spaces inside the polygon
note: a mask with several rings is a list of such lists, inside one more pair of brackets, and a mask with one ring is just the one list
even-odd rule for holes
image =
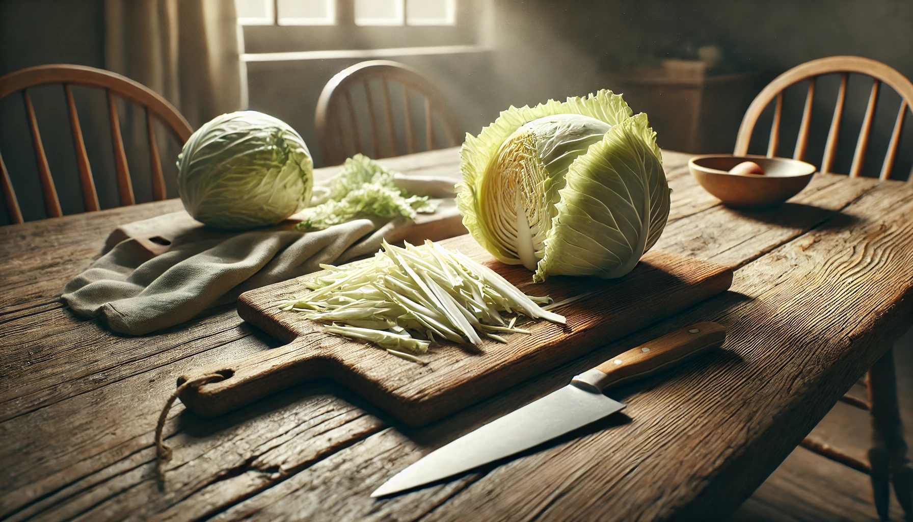
{"label": "rumpled grey-beige cloth beneath the whole uncut cabbage", "polygon": [[[453,186],[452,179],[446,181]],[[412,180],[410,190],[436,197],[441,184],[441,178],[420,178]],[[459,218],[452,202],[445,200],[436,212],[444,214],[436,218],[447,221],[446,230],[453,230],[449,221]],[[68,282],[60,298],[75,314],[100,317],[114,331],[139,336],[232,303],[247,290],[316,272],[320,263],[371,254],[383,240],[403,240],[414,225],[406,218],[364,218],[312,232],[278,227],[226,233],[197,227],[178,235],[159,255],[140,240],[122,240]]]}

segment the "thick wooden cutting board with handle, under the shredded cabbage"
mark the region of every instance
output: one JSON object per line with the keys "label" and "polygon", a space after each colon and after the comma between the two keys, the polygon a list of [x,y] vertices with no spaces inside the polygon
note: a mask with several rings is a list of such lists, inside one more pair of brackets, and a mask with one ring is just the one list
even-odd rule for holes
{"label": "thick wooden cutting board with handle, under the shredded cabbage", "polygon": [[226,376],[184,389],[182,402],[200,415],[215,416],[305,380],[332,378],[397,419],[421,425],[676,314],[732,282],[726,267],[650,251],[620,279],[552,277],[533,283],[531,272],[500,263],[468,235],[441,244],[487,264],[524,293],[570,301],[553,310],[567,318],[567,325],[528,323],[523,327],[532,335],[513,334],[506,345],[484,342],[477,350],[436,344],[422,356],[427,364],[419,365],[377,346],[322,333],[302,314],[279,311],[278,302],[308,292],[299,280],[279,282],[241,294],[237,310],[288,344],[182,376],[179,385],[209,373]]}

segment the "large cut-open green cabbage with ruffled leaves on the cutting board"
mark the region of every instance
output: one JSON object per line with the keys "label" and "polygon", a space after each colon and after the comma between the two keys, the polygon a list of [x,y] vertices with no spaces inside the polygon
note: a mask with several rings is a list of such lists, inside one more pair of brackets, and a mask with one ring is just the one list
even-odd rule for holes
{"label": "large cut-open green cabbage with ruffled leaves on the cutting board", "polygon": [[460,151],[463,224],[498,260],[621,277],[666,227],[669,186],[646,114],[622,97],[511,107]]}

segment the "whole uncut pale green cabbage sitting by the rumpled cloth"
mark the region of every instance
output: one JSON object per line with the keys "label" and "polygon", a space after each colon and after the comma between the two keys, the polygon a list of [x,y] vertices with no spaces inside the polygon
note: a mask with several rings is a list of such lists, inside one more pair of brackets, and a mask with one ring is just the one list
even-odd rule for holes
{"label": "whole uncut pale green cabbage sitting by the rumpled cloth", "polygon": [[177,156],[184,208],[217,229],[275,225],[310,202],[313,162],[299,133],[256,111],[217,116]]}

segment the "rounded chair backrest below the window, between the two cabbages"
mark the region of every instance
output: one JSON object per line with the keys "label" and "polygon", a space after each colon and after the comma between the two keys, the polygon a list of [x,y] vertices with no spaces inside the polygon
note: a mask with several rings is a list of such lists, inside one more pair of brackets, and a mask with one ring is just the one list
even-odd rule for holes
{"label": "rounded chair backrest below the window, between the two cabbages", "polygon": [[[404,147],[399,146],[394,129],[393,100],[390,94],[393,83],[400,84],[402,88]],[[380,84],[382,92],[383,129],[378,123],[380,118],[377,113],[377,101],[372,94],[372,84],[375,87]],[[357,92],[353,92],[356,89]],[[425,100],[425,147],[422,150],[441,148],[437,146],[435,139],[436,122],[443,127],[446,134],[444,146],[460,144],[456,114],[450,110],[444,95],[431,81],[402,63],[383,59],[362,61],[332,77],[320,93],[315,123],[324,165],[339,165],[346,157],[355,153],[378,159],[400,155],[401,150],[408,153],[419,152],[415,128],[418,126],[416,123],[420,123],[421,120],[413,121],[410,91],[418,93]],[[364,111],[360,114],[352,102],[353,94],[360,95],[362,92],[366,101],[367,121],[370,123],[366,131],[371,136],[371,144],[362,140],[364,125],[360,122],[364,122],[364,118],[361,117]]]}

